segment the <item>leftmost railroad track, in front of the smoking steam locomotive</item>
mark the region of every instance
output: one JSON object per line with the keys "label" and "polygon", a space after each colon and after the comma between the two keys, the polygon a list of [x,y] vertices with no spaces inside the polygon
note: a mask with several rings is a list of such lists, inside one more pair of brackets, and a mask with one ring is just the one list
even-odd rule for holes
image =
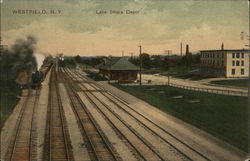
{"label": "leftmost railroad track, in front of the smoking steam locomotive", "polygon": [[35,160],[36,159],[36,129],[34,113],[40,90],[29,90],[22,105],[15,131],[5,156],[5,160]]}

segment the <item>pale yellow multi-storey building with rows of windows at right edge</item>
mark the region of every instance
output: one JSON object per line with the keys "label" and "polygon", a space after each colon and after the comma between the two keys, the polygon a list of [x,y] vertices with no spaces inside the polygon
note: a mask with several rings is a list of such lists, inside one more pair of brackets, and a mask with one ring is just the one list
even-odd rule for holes
{"label": "pale yellow multi-storey building with rows of windows at right edge", "polygon": [[201,72],[206,75],[227,78],[249,76],[249,50],[224,49],[201,50]]}

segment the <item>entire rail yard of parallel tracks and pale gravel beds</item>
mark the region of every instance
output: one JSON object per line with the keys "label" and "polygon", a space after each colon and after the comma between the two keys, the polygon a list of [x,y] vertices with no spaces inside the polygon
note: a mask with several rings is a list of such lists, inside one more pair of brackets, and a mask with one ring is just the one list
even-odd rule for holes
{"label": "entire rail yard of parallel tracks and pale gravel beds", "polygon": [[[42,87],[26,89],[1,130],[3,160],[215,161],[244,152],[195,128],[180,136],[84,72],[49,67]],[[147,108],[145,108],[147,110]],[[157,111],[156,111],[157,113]],[[152,114],[153,115],[153,114]],[[162,117],[162,115],[159,115]],[[164,115],[163,117],[167,117]],[[193,137],[188,137],[188,135]],[[190,138],[193,138],[190,139]],[[212,138],[212,139],[211,139]],[[195,140],[201,140],[197,143]],[[221,144],[221,145],[220,145]]]}

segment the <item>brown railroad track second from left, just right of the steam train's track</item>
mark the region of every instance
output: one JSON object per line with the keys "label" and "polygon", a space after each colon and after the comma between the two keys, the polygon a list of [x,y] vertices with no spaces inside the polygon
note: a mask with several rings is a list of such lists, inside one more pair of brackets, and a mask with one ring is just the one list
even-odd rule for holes
{"label": "brown railroad track second from left, just right of the steam train's track", "polygon": [[58,90],[55,68],[52,69],[51,74],[44,160],[72,161],[74,160],[72,146]]}

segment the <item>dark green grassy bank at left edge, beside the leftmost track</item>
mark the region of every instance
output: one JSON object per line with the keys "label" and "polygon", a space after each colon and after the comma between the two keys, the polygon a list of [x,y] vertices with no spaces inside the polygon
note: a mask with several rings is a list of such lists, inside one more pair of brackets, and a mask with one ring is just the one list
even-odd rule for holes
{"label": "dark green grassy bank at left edge, beside the leftmost track", "polygon": [[17,102],[19,101],[18,95],[21,94],[21,89],[15,82],[6,81],[0,82],[0,129],[3,127],[4,122],[13,111]]}

